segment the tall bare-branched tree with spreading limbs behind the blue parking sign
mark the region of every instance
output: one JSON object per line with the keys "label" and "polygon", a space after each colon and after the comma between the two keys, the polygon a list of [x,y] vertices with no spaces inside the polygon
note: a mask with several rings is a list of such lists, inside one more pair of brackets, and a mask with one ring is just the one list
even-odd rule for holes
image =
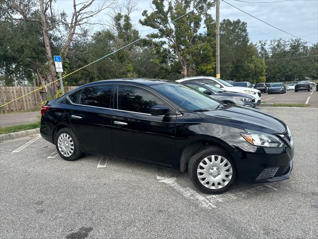
{"label": "tall bare-branched tree with spreading limbs behind the blue parking sign", "polygon": [[[70,44],[73,37],[77,33],[77,27],[80,26],[85,32],[85,26],[91,24],[89,18],[98,14],[101,10],[109,7],[113,1],[104,0],[96,9],[91,9],[94,0],[86,0],[84,2],[76,3],[74,0],[74,12],[71,22],[68,23],[66,13],[55,12],[52,3],[55,0],[7,0],[1,6],[1,11],[6,13],[6,17],[14,21],[26,21],[40,24],[43,33],[44,49],[47,58],[47,70],[42,69],[44,76],[44,84],[52,83],[57,80],[57,74],[52,57],[52,39],[50,39],[50,32],[59,32],[60,26],[64,25],[67,30],[67,38],[61,48],[60,54],[66,57],[69,51]],[[38,74],[37,72],[36,74]],[[42,79],[41,74],[39,77]],[[53,84],[55,93],[59,89],[59,84]]]}

